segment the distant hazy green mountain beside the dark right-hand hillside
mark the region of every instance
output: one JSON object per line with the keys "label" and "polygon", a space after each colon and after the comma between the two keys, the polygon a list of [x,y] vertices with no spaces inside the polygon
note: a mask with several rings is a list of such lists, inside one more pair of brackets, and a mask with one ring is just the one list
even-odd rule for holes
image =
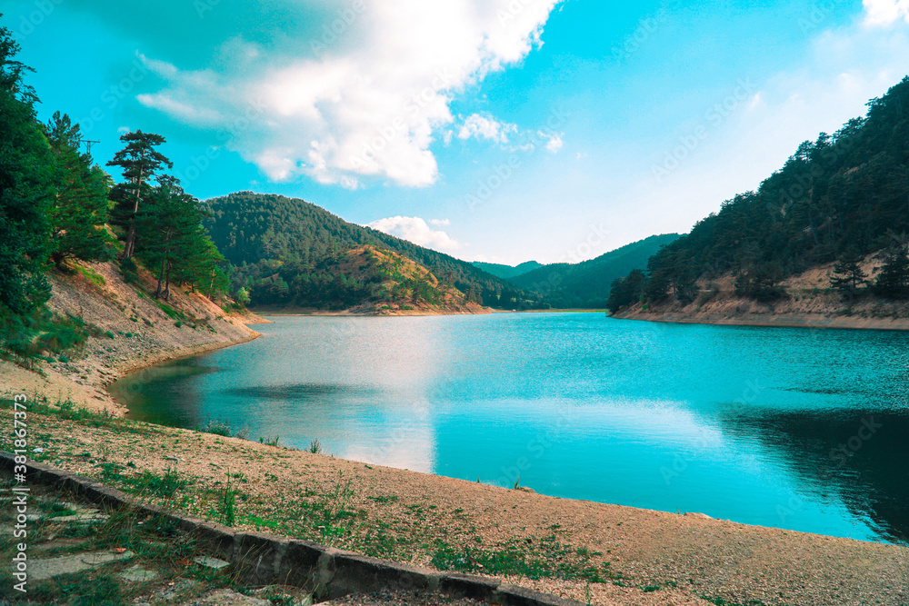
{"label": "distant hazy green mountain beside the dark right-hand hillside", "polygon": [[644,269],[654,253],[679,237],[678,233],[653,235],[583,263],[544,265],[511,278],[511,282],[539,293],[553,307],[604,308],[616,278]]}

